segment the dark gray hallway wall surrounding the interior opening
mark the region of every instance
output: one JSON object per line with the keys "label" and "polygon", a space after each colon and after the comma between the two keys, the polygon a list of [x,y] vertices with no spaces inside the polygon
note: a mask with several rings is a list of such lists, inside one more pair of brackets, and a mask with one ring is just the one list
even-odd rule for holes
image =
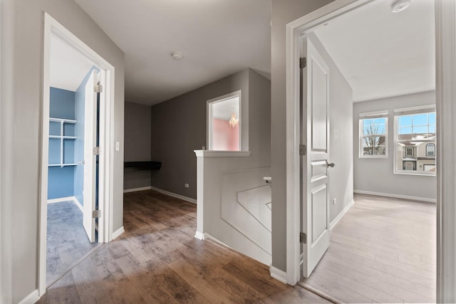
{"label": "dark gray hallway wall surrounding the interior opening", "polygon": [[[207,100],[242,90],[242,146],[252,152],[252,166],[270,164],[270,82],[247,69],[190,93],[152,106],[152,159],[161,161],[152,172],[152,187],[196,199],[196,157],[206,143]],[[246,108],[248,105],[248,108]],[[246,136],[247,135],[247,136]],[[185,188],[184,184],[189,184]]]}

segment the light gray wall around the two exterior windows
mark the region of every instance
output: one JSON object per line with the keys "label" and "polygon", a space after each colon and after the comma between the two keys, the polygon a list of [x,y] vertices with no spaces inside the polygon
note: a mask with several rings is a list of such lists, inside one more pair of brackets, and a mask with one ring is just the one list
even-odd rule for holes
{"label": "light gray wall around the two exterior windows", "polygon": [[[436,177],[393,173],[394,109],[431,104],[435,104],[435,91],[353,104],[355,190],[436,199]],[[359,158],[359,113],[376,110],[388,110],[388,158]]]}

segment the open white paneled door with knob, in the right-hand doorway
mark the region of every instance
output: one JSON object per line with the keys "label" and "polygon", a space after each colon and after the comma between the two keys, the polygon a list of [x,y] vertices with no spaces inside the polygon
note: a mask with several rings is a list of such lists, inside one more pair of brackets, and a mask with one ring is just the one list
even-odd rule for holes
{"label": "open white paneled door with knob, in the right-hand doorway", "polygon": [[301,156],[303,276],[309,278],[329,246],[329,74],[328,65],[304,38]]}

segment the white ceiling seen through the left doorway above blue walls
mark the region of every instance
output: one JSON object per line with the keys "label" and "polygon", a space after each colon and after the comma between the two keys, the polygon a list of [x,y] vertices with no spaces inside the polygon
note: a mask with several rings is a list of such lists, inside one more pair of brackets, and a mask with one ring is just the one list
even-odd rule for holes
{"label": "white ceiling seen through the left doorway above blue walls", "polygon": [[51,36],[50,45],[49,81],[51,87],[76,91],[93,64],[56,36]]}

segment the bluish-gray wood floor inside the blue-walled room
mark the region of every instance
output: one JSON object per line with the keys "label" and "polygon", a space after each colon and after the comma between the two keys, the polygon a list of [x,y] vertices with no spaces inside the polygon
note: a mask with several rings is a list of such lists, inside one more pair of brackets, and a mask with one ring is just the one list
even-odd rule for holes
{"label": "bluish-gray wood floor inside the blue-walled room", "polygon": [[83,213],[73,201],[48,204],[46,286],[95,246],[83,228]]}

